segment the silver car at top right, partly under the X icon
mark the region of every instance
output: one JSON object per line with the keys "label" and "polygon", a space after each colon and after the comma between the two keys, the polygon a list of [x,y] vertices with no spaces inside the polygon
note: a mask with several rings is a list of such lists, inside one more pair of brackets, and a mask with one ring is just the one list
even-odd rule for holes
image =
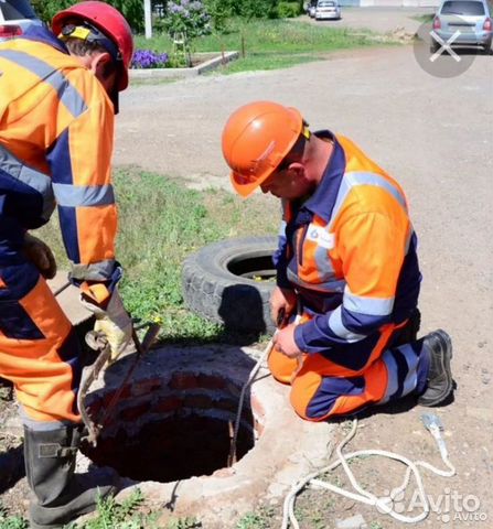
{"label": "silver car at top right, partly under the X icon", "polygon": [[[453,46],[482,46],[490,52],[493,24],[486,0],[444,0],[433,18],[433,31],[443,41],[453,39]],[[431,34],[431,53],[441,47]]]}

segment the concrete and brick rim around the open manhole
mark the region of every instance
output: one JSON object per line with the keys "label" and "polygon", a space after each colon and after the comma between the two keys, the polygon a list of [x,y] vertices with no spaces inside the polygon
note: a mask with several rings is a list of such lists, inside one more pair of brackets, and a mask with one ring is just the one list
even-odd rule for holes
{"label": "concrete and brick rim around the open manhole", "polygon": [[[148,353],[132,379],[140,390],[160,373],[189,373],[193,366],[196,376],[221,373],[224,378],[246,380],[258,355],[249,347],[223,345],[160,347]],[[124,358],[104,380],[96,381],[88,402],[93,395],[117,388],[130,363],[130,357]],[[116,499],[124,499],[138,487],[150,504],[171,507],[174,517],[195,516],[207,528],[226,528],[259,503],[281,503],[293,483],[328,464],[335,425],[301,420],[289,403],[289,387],[274,380],[265,368],[251,387],[251,402],[261,434],[254,449],[231,468],[169,483],[129,479]],[[84,462],[79,464],[84,467]]]}

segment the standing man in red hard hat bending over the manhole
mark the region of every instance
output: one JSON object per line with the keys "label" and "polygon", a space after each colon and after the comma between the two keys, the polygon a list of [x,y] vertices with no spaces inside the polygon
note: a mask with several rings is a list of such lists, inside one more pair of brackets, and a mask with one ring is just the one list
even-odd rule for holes
{"label": "standing man in red hard hat bending over the manhole", "polygon": [[130,26],[104,2],[77,3],[0,44],[0,376],[22,407],[32,528],[94,510],[99,493],[74,476],[81,436],[79,344],[46,285],[56,264],[28,233],[55,202],[71,279],[115,359],[131,341],[117,290],[110,179],[118,93],[128,86]]}

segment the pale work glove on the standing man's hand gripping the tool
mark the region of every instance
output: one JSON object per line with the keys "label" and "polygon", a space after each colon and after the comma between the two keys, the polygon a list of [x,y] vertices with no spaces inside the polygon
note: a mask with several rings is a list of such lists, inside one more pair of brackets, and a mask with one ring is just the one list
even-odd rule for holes
{"label": "pale work glove on the standing man's hand gripping the tool", "polygon": [[84,294],[81,301],[96,317],[94,330],[103,333],[108,341],[111,349],[110,361],[115,361],[124,350],[135,350],[132,322],[116,287],[105,309],[90,302]]}

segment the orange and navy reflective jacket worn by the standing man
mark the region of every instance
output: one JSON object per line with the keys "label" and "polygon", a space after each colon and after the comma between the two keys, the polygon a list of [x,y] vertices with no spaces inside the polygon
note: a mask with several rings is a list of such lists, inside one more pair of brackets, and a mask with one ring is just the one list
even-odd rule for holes
{"label": "orange and navy reflective jacket worn by the standing man", "polygon": [[112,137],[104,87],[50,31],[0,43],[0,230],[45,224],[56,202],[76,280],[115,271]]}

